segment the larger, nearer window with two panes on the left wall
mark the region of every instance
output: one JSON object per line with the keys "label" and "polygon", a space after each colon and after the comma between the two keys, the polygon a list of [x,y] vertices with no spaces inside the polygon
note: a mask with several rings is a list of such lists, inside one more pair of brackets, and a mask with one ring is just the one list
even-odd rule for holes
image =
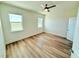
{"label": "larger, nearer window with two panes on the left wall", "polygon": [[10,26],[11,26],[12,32],[23,30],[22,15],[9,14],[9,21],[10,21]]}

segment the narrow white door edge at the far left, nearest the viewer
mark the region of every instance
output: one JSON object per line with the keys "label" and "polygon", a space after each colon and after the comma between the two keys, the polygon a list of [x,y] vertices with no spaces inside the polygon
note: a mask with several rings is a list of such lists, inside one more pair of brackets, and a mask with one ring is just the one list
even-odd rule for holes
{"label": "narrow white door edge at the far left, nearest the viewer", "polygon": [[5,43],[4,43],[4,37],[2,32],[2,26],[0,21],[0,58],[5,57]]}

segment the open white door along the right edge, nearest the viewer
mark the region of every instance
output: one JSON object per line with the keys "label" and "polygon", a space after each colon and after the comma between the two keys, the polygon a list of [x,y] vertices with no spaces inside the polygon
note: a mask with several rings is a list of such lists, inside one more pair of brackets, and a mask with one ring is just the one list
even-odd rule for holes
{"label": "open white door along the right edge, nearest the viewer", "polygon": [[78,16],[76,21],[72,50],[74,53],[71,53],[71,57],[79,58],[79,9],[78,9]]}

